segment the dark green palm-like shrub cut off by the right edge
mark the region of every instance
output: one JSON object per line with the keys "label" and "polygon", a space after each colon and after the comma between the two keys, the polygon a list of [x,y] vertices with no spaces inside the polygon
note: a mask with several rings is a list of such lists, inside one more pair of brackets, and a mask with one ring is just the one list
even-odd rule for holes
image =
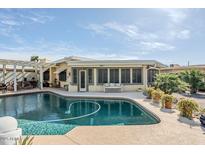
{"label": "dark green palm-like shrub cut off by the right edge", "polygon": [[184,82],[189,84],[191,93],[197,93],[198,89],[204,85],[205,74],[199,70],[183,71],[179,76]]}

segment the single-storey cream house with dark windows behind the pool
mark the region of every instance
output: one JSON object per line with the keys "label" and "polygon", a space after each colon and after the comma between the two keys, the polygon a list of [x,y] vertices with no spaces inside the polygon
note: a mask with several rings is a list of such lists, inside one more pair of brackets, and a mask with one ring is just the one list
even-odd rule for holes
{"label": "single-storey cream house with dark windows behind the pool", "polygon": [[70,92],[136,91],[152,84],[163,67],[166,65],[155,60],[95,60],[72,56],[43,66],[43,80],[47,86],[66,88]]}

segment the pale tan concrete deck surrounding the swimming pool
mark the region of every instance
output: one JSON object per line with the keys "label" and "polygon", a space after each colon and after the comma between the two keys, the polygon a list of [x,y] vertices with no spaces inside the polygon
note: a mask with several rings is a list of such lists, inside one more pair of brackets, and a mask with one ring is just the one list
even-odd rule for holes
{"label": "pale tan concrete deck surrounding the swimming pool", "polygon": [[[50,91],[70,97],[128,98],[156,114],[161,122],[154,125],[79,126],[65,135],[35,136],[34,144],[205,144],[205,128],[180,122],[179,112],[167,113],[151,104],[141,92],[68,93],[60,89],[44,88],[16,92],[17,94]],[[11,92],[9,95],[13,95]],[[7,94],[0,94],[7,95]]]}

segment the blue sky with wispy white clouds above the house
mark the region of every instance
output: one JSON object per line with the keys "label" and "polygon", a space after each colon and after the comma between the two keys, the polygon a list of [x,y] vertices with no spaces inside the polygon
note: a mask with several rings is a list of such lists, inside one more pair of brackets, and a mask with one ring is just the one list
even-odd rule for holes
{"label": "blue sky with wispy white clouds above the house", "polygon": [[0,9],[0,59],[205,64],[205,9]]}

